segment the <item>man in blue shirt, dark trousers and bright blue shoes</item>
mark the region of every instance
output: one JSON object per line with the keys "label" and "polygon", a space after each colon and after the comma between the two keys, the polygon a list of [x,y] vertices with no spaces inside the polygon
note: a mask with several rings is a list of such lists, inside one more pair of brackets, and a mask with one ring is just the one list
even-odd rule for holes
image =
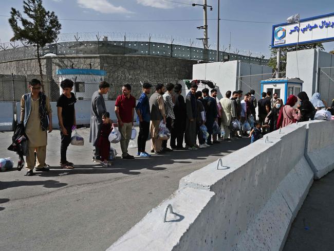
{"label": "man in blue shirt, dark trousers and bright blue shoes", "polygon": [[147,95],[151,92],[152,84],[143,83],[143,93],[141,94],[138,104],[136,106],[137,112],[137,122],[139,122],[139,133],[138,133],[138,153],[139,157],[151,157],[145,151],[146,140],[149,137],[150,132],[150,121],[151,121],[151,113],[150,113],[150,101]]}

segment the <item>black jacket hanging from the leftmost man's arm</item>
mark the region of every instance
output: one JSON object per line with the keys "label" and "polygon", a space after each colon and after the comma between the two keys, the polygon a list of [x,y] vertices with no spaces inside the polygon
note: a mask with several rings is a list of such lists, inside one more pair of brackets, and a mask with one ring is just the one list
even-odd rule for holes
{"label": "black jacket hanging from the leftmost man's arm", "polygon": [[24,132],[23,123],[16,124],[12,137],[12,144],[7,149],[18,154],[17,171],[21,171],[24,167],[23,156],[26,156],[28,151],[28,138]]}

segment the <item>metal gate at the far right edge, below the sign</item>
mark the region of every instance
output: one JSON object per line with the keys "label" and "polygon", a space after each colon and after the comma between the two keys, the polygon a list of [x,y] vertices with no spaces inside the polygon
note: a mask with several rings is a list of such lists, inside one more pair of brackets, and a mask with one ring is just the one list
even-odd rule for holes
{"label": "metal gate at the far right edge, below the sign", "polygon": [[321,99],[331,105],[334,99],[334,67],[324,67],[319,70],[319,93]]}

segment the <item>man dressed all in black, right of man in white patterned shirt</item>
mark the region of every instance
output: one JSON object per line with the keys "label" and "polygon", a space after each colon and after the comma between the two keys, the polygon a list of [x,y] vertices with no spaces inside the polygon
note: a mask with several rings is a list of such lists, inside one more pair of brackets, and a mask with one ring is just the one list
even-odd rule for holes
{"label": "man dressed all in black, right of man in white patterned shirt", "polygon": [[[184,149],[183,144],[183,136],[184,136],[184,130],[185,130],[185,116],[186,113],[185,110],[185,102],[184,98],[181,95],[182,92],[182,85],[176,84],[174,86],[174,116],[175,119],[172,123],[172,132],[171,132],[171,148],[182,150]],[[175,145],[176,140],[176,145]]]}

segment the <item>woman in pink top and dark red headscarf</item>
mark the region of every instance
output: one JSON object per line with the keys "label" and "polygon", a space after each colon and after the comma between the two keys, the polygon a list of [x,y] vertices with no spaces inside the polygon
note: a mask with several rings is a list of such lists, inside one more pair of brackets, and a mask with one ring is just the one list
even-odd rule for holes
{"label": "woman in pink top and dark red headscarf", "polygon": [[286,105],[280,111],[279,119],[277,120],[276,128],[286,127],[289,124],[295,123],[301,119],[301,113],[293,106],[298,101],[297,97],[290,95],[286,101]]}

